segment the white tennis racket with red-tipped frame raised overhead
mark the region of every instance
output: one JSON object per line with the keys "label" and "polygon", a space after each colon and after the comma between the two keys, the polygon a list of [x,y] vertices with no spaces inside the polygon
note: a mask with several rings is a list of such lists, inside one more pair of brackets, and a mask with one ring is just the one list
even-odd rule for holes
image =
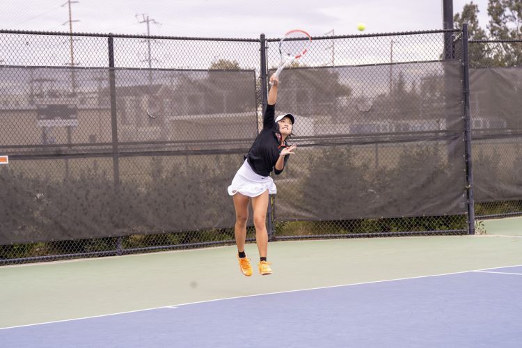
{"label": "white tennis racket with red-tipped frame raised overhead", "polygon": [[[274,73],[275,76],[279,77],[284,68],[304,56],[310,47],[310,42],[312,42],[312,38],[306,31],[294,29],[285,33],[285,36],[279,41],[280,62]],[[272,82],[270,84],[273,85]]]}

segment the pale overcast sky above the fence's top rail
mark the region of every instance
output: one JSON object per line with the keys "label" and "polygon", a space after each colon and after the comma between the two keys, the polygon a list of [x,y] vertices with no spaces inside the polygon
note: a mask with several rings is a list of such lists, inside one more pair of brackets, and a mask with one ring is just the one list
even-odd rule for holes
{"label": "pale overcast sky above the fence's top rail", "polygon": [[[310,35],[358,33],[356,24],[367,25],[365,33],[389,33],[441,29],[442,0],[78,0],[72,3],[73,31],[85,33],[144,34],[141,14],[160,24],[151,24],[151,35],[278,38],[289,29],[304,29]],[[66,0],[2,0],[0,29],[68,31]],[[454,0],[454,13],[466,0]],[[487,0],[474,0],[479,22],[487,26]],[[139,19],[136,15],[139,14]]]}

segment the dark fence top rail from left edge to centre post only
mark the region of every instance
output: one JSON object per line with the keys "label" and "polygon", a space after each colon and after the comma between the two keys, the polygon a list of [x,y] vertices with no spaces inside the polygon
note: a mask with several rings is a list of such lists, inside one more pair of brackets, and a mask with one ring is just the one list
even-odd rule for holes
{"label": "dark fence top rail from left edge to centre post only", "polygon": [[90,36],[96,38],[132,38],[132,39],[158,39],[158,40],[193,40],[193,41],[231,41],[231,42],[260,42],[260,38],[195,38],[188,36],[159,36],[159,35],[130,35],[113,33],[65,33],[63,31],[24,31],[3,30],[2,34],[26,34],[26,35],[56,35],[56,36]]}

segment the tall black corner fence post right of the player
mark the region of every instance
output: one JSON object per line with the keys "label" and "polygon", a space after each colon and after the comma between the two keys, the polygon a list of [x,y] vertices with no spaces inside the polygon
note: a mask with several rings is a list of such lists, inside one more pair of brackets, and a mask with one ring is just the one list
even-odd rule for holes
{"label": "tall black corner fence post right of the player", "polygon": [[464,72],[464,141],[466,142],[466,192],[468,193],[468,234],[475,235],[475,200],[471,166],[471,120],[469,108],[468,24],[462,24],[462,63]]}

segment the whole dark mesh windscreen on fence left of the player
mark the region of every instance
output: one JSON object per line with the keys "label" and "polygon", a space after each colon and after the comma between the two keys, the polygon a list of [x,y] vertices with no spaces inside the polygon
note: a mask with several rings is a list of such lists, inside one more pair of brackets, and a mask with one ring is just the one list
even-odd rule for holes
{"label": "whole dark mesh windscreen on fence left of the player", "polygon": [[226,189],[258,132],[253,70],[118,69],[113,90],[104,68],[0,72],[0,244],[233,225]]}

